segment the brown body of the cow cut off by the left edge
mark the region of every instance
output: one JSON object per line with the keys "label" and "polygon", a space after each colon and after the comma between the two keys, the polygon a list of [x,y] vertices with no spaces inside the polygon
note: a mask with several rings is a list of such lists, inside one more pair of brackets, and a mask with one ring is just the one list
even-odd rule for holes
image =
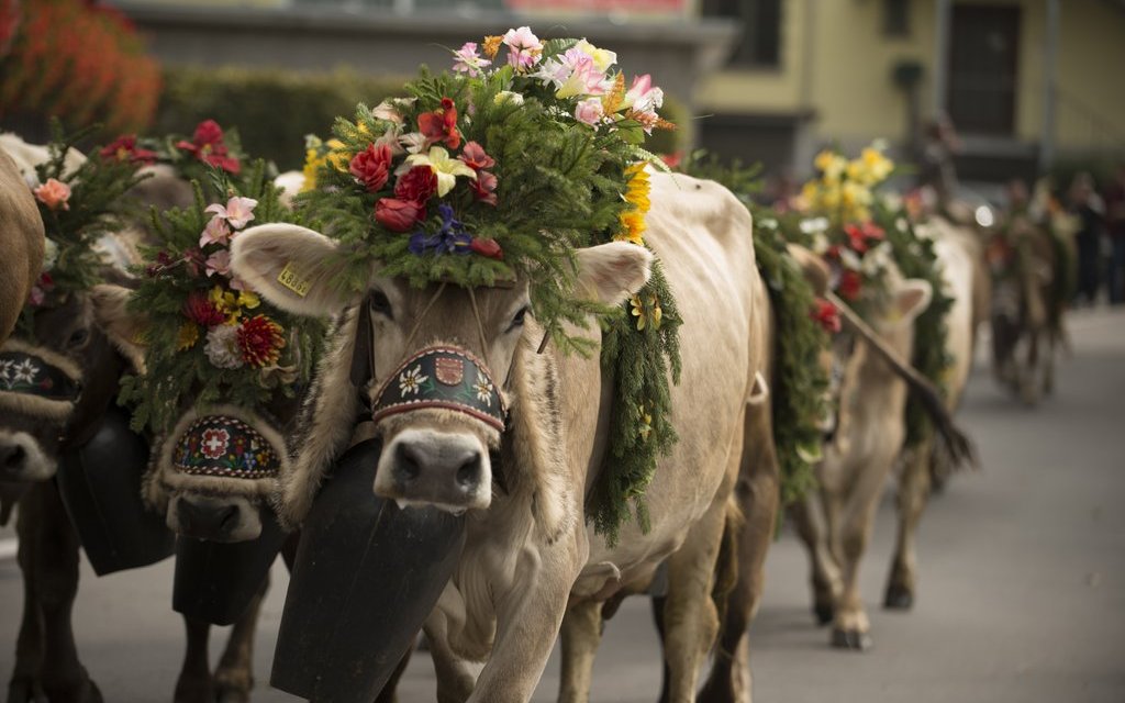
{"label": "brown body of the cow cut off by the left edge", "polygon": [[0,148],[0,344],[43,269],[43,220],[19,166]]}

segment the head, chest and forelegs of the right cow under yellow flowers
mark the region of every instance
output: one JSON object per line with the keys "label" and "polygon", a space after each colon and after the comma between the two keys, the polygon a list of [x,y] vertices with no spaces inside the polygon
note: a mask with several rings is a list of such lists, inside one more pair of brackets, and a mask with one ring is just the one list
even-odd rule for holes
{"label": "head, chest and forelegs of the right cow under yellow flowers", "polygon": [[[910,359],[914,321],[933,290],[904,279],[893,263],[886,295],[871,306],[871,326],[856,317],[834,341],[840,371],[839,418],[817,467],[819,489],[791,508],[812,567],[813,610],[831,620],[834,646],[866,649],[871,624],[860,595],[860,559],[874,525],[875,508],[904,439],[908,386],[884,352]],[[843,310],[847,307],[838,304]],[[861,333],[857,333],[861,332]]]}

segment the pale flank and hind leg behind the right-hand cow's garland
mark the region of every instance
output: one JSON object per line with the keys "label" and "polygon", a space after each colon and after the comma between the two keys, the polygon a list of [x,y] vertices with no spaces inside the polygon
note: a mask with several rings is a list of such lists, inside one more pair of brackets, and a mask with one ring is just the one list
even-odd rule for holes
{"label": "pale flank and hind leg behind the right-hand cow's garland", "polygon": [[[981,247],[976,234],[943,217],[917,226],[919,236],[934,240],[934,252],[945,295],[953,306],[944,316],[945,350],[952,366],[943,380],[945,407],[953,413],[969,382],[973,344],[980,319],[979,276]],[[914,447],[903,450],[898,481],[898,538],[888,576],[884,606],[904,610],[914,604],[917,587],[915,532],[926,507],[934,477],[948,471],[948,457],[935,451],[935,436],[926,432]]]}

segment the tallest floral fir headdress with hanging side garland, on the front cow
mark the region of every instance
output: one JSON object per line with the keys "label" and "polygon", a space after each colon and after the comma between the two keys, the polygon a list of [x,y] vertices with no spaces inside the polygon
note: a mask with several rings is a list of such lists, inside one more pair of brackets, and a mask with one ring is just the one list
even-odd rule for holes
{"label": "tallest floral fir headdress with hanging side garland, on the front cow", "polygon": [[531,282],[536,319],[562,352],[590,350],[565,323],[602,316],[602,362],[624,369],[618,388],[604,493],[592,514],[611,537],[640,497],[656,458],[675,442],[668,377],[678,376],[675,300],[657,264],[648,286],[621,309],[575,296],[575,251],[609,241],[644,245],[649,208],[641,147],[672,128],[651,78],[627,81],[616,55],[585,39],[540,40],[510,29],[453,52],[453,71],[423,70],[407,97],[354,119],[333,138],[312,141],[298,198],[314,225],[343,244],[351,291],[369,264],[413,285]]}

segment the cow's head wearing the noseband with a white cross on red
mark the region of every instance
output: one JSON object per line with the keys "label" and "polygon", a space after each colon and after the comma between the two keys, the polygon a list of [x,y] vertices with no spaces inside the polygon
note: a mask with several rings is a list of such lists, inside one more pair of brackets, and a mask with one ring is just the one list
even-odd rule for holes
{"label": "cow's head wearing the noseband with a white cross on red", "polygon": [[[146,319],[129,309],[129,296],[126,288],[97,286],[94,309],[115,342],[143,357],[136,340],[143,339]],[[298,404],[287,399],[271,408],[274,415],[264,416],[233,405],[204,413],[196,400],[195,394],[184,394],[174,425],[153,438],[145,501],[164,513],[169,529],[179,534],[218,542],[256,539],[262,521],[272,519],[264,514],[267,499],[288,461],[282,434]]]}

